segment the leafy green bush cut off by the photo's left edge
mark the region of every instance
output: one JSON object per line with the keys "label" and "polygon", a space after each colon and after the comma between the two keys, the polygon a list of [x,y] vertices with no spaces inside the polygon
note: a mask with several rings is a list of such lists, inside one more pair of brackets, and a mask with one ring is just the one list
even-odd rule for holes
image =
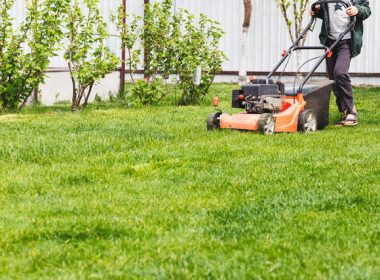
{"label": "leafy green bush cut off by the photo's left edge", "polygon": [[3,110],[22,108],[44,82],[50,58],[62,38],[61,15],[66,1],[31,0],[21,26],[14,27],[14,0],[0,3],[0,102]]}

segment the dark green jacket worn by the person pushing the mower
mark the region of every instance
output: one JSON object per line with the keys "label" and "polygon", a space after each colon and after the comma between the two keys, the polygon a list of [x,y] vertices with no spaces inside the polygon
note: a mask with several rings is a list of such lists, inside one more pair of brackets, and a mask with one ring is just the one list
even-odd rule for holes
{"label": "dark green jacket worn by the person pushing the mower", "polygon": [[[369,18],[371,15],[371,8],[369,7],[368,0],[353,0],[353,4],[358,8],[359,13],[356,16],[356,25],[354,30],[351,32],[351,54],[355,57],[360,54],[363,45],[363,21]],[[330,23],[329,23],[329,12],[327,4],[322,4],[322,8],[315,15],[317,18],[323,20],[321,34],[319,39],[322,45],[326,45]]]}

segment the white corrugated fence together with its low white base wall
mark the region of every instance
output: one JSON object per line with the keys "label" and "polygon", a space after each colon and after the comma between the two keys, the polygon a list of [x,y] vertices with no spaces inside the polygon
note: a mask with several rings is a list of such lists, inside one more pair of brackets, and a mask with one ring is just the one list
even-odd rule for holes
{"label": "white corrugated fence together with its low white base wall", "polygon": [[[25,1],[15,1],[13,14],[16,22],[20,22],[23,18]],[[101,0],[101,9],[106,19],[109,19],[110,15],[116,12],[121,2],[121,0]],[[144,0],[127,0],[127,13],[142,16],[143,2]],[[380,1],[370,1],[370,4],[372,16],[365,22],[364,47],[362,54],[353,60],[351,73],[354,84],[380,85],[380,53],[378,51],[380,47],[380,37],[378,36],[380,19],[377,17],[378,12],[380,12]],[[226,32],[221,42],[221,48],[229,58],[223,64],[223,71],[238,71],[243,0],[176,0],[174,9],[180,8],[188,9],[196,15],[204,13],[221,23]],[[315,31],[309,34],[306,44],[319,45],[320,20],[318,21]],[[116,35],[113,24],[110,24],[109,31]],[[281,50],[290,45],[285,22],[275,0],[253,0],[252,28],[249,36],[249,71],[269,72],[281,58]],[[111,36],[107,44],[116,54],[120,54],[120,40],[116,36]],[[317,55],[318,52],[305,51],[303,52],[303,61]],[[67,73],[62,72],[66,68],[66,62],[62,59],[61,53],[51,60],[49,78],[47,84],[42,87],[43,93],[49,94],[49,97],[45,97],[46,103],[50,104],[54,100],[65,100],[70,96],[71,84]],[[57,70],[58,73],[55,72]],[[308,70],[308,67],[305,67],[304,70]],[[290,61],[287,71],[296,71],[295,58]],[[318,71],[324,72],[324,65]],[[127,76],[126,79],[128,78]],[[220,75],[217,81],[232,82],[237,81],[237,77],[235,75]],[[98,87],[99,93],[101,89],[107,88],[116,91],[118,82],[117,73],[107,76]],[[57,94],[58,99],[56,98]],[[108,94],[108,91],[103,93],[105,98]]]}

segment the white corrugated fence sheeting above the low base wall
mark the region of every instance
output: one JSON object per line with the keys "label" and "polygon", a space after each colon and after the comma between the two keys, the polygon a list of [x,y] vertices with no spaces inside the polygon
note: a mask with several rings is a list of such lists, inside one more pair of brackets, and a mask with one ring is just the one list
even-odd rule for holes
{"label": "white corrugated fence sheeting above the low base wall", "polygon": [[[15,17],[18,21],[24,14],[24,2],[16,0]],[[121,0],[101,0],[101,9],[105,18],[115,13]],[[380,36],[378,36],[380,19],[380,2],[370,1],[373,16],[365,22],[363,52],[353,61],[351,72],[380,73]],[[127,0],[127,12],[143,15],[144,0]],[[275,0],[253,0],[253,18],[250,31],[250,49],[248,53],[250,71],[269,71],[278,61],[281,50],[290,44],[284,20],[279,13]],[[204,13],[219,21],[226,32],[221,48],[227,54],[229,61],[223,64],[224,71],[239,69],[240,36],[243,21],[243,0],[175,0],[175,8],[185,8],[194,14]],[[308,43],[319,44],[318,33],[320,25],[310,34]],[[115,27],[110,24],[110,32],[115,34]],[[116,37],[109,39],[108,45],[119,53],[120,42]],[[315,53],[304,53],[307,59]],[[54,58],[51,67],[66,67],[61,57]],[[289,65],[289,71],[295,71],[295,62]]]}

